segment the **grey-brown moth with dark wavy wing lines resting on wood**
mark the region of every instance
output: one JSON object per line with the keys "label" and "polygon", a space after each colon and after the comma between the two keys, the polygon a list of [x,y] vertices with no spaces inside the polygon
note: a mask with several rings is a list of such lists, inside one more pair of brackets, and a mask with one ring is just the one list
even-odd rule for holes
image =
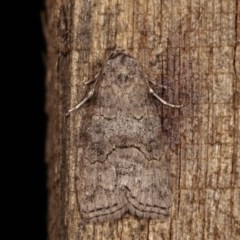
{"label": "grey-brown moth with dark wavy wing lines resting on wood", "polygon": [[115,51],[87,84],[90,91],[67,114],[84,107],[75,173],[81,217],[167,217],[170,179],[154,98],[181,105],[160,98],[139,62],[123,51]]}

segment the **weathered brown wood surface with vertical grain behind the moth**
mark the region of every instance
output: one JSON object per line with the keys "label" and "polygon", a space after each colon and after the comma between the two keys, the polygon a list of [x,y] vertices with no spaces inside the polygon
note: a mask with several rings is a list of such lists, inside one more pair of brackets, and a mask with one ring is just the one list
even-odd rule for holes
{"label": "weathered brown wood surface with vertical grain behind the moth", "polygon": [[[239,6],[239,0],[46,0],[50,240],[240,239]],[[187,99],[179,111],[160,109],[171,214],[163,222],[126,214],[82,226],[74,187],[81,116],[65,114],[116,46],[179,93],[162,97]]]}

